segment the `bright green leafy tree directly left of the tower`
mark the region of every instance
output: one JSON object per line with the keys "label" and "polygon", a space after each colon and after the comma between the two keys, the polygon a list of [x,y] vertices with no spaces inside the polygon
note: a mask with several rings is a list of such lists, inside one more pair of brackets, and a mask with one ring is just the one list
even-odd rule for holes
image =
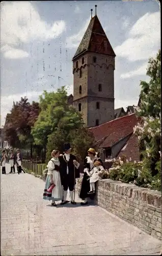
{"label": "bright green leafy tree directly left of the tower", "polygon": [[53,148],[62,151],[65,141],[69,140],[69,134],[82,126],[82,115],[67,102],[68,96],[65,87],[57,92],[44,91],[40,96],[41,112],[32,129],[35,143],[47,145],[47,159]]}

